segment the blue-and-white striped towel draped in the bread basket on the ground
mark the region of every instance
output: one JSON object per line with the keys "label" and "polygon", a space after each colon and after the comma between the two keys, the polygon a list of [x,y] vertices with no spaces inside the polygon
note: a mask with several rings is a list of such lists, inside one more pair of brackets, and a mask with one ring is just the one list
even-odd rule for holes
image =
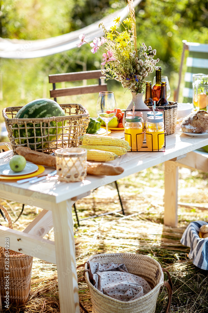
{"label": "blue-and-white striped towel draped in the bread basket on the ground", "polygon": [[200,269],[208,270],[208,238],[199,237],[199,229],[207,224],[203,221],[191,222],[181,238],[181,244],[190,247],[189,259]]}

